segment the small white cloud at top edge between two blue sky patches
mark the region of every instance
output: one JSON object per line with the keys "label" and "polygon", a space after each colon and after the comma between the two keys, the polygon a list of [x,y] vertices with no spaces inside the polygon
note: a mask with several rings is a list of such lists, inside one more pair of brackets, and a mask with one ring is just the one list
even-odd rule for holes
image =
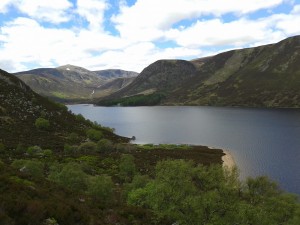
{"label": "small white cloud at top edge between two blue sky patches", "polygon": [[77,12],[89,22],[91,29],[101,29],[108,7],[107,0],[77,0]]}

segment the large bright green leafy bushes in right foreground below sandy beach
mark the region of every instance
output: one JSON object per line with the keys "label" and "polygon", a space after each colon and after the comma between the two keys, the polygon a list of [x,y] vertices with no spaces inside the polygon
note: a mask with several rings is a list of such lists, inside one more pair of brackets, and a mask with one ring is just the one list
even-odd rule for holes
{"label": "large bright green leafy bushes in right foreground below sandy beach", "polygon": [[127,195],[127,203],[150,208],[159,221],[299,223],[296,196],[282,194],[277,185],[265,177],[250,178],[241,185],[236,170],[229,172],[219,165],[205,167],[184,160],[166,160],[157,164],[154,179],[134,186]]}

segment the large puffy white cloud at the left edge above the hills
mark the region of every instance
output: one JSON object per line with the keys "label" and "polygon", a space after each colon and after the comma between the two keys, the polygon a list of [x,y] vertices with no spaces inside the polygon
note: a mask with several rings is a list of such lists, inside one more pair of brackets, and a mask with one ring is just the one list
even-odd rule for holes
{"label": "large puffy white cloud at the left edge above the hills", "polygon": [[69,55],[77,55],[74,49],[75,34],[72,31],[46,29],[28,18],[18,18],[3,26],[1,37],[0,60],[49,64],[50,61],[60,62]]}

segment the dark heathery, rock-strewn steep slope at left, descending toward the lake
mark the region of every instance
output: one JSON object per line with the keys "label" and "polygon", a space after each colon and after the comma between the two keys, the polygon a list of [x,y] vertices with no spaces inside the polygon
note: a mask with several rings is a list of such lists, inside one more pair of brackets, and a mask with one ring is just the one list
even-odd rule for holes
{"label": "dark heathery, rock-strewn steep slope at left, descending toward the lake", "polygon": [[[35,126],[38,118],[48,120],[50,127],[38,129]],[[22,144],[61,150],[70,133],[85,138],[85,131],[91,125],[70,114],[65,106],[41,97],[18,78],[0,70],[0,127],[0,142],[8,148]],[[117,138],[110,133],[106,135]]]}

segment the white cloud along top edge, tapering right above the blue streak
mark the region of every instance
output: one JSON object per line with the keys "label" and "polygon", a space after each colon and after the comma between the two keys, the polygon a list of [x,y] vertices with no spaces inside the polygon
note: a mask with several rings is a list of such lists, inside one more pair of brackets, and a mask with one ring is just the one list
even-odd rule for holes
{"label": "white cloud along top edge, tapering right above the blue streak", "polygon": [[[156,40],[162,37],[161,31],[170,29],[184,19],[227,13],[243,15],[275,7],[282,2],[283,0],[138,0],[130,7],[122,5],[120,14],[114,15],[112,21],[122,37],[140,40],[139,35],[135,37],[132,34],[144,33],[148,40]],[[145,40],[143,36],[142,40]]]}

